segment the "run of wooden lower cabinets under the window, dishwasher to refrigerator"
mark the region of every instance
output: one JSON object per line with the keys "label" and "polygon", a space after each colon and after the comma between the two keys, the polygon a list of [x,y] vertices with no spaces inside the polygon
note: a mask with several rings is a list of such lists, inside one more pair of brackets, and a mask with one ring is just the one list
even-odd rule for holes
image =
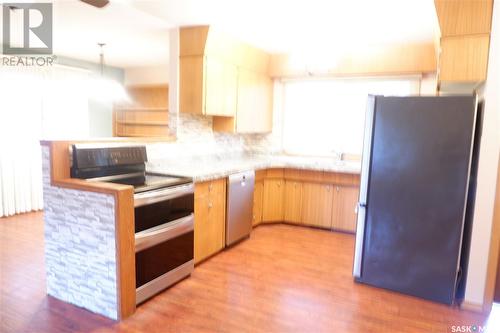
{"label": "run of wooden lower cabinets under the window, dishwasher to refrigerator", "polygon": [[259,171],[253,225],[289,222],[355,233],[358,184],[359,176],[351,174],[295,169]]}

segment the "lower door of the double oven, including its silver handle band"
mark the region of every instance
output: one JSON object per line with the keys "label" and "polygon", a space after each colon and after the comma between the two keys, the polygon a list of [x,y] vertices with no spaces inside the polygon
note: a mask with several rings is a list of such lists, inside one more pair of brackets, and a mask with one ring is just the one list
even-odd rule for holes
{"label": "lower door of the double oven, including its silver handle band", "polygon": [[191,274],[194,214],[135,235],[136,303]]}

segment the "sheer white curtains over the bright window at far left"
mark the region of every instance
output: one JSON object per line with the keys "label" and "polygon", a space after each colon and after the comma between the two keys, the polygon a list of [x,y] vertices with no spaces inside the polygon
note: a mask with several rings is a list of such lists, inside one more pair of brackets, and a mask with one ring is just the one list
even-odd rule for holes
{"label": "sheer white curtains over the bright window at far left", "polygon": [[40,139],[88,136],[88,73],[0,69],[0,217],[43,208]]}

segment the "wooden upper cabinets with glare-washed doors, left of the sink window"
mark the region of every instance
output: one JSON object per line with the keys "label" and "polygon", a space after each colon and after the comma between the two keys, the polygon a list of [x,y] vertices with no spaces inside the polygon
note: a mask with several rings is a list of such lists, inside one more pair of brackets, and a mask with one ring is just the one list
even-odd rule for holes
{"label": "wooden upper cabinets with glare-washed doors, left of the sink window", "polygon": [[270,56],[208,26],[180,30],[180,112],[214,116],[213,129],[272,130]]}

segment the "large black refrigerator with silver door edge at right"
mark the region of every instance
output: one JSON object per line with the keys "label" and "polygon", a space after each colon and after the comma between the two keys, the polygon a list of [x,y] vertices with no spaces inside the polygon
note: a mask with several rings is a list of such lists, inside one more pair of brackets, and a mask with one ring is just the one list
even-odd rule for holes
{"label": "large black refrigerator with silver door edge at right", "polygon": [[368,98],[357,282],[454,302],[468,256],[477,105],[475,96]]}

